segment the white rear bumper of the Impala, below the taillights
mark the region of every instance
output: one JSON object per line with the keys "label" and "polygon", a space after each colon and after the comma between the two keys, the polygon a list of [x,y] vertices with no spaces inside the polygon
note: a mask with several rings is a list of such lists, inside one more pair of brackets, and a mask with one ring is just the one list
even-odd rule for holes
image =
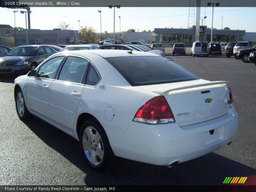
{"label": "white rear bumper of the Impala, below the taillights", "polygon": [[[134,121],[126,130],[102,126],[116,156],[169,165],[195,159],[230,143],[238,130],[238,114],[232,107],[224,116],[183,127],[176,123],[148,125]],[[210,130],[214,130],[212,135]]]}

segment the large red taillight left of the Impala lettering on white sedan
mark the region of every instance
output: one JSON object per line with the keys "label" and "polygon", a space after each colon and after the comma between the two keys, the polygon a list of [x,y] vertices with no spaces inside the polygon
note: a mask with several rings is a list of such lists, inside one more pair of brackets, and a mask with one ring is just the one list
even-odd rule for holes
{"label": "large red taillight left of the Impala lettering on white sedan", "polygon": [[172,110],[164,96],[157,96],[145,103],[136,113],[134,121],[148,124],[174,122]]}

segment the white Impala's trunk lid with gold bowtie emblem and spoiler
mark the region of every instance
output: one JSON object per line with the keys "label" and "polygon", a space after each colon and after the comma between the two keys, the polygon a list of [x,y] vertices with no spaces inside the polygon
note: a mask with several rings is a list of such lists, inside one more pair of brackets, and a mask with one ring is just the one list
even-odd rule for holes
{"label": "white Impala's trunk lid with gold bowtie emblem and spoiler", "polygon": [[[179,126],[208,121],[228,113],[228,82],[203,79],[140,88],[164,95]],[[151,86],[151,88],[150,88]]]}

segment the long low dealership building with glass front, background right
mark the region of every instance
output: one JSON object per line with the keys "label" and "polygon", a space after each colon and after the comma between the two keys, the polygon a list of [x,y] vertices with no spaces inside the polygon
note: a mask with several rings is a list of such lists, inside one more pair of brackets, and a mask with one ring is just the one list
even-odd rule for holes
{"label": "long low dealership building with glass front, background right", "polygon": [[[141,43],[184,43],[195,42],[196,26],[188,29],[182,28],[155,28],[152,32],[125,32],[126,41],[140,41]],[[213,41],[250,41],[256,40],[256,33],[248,33],[245,30],[213,29]],[[211,42],[211,29],[200,26],[199,41]]]}

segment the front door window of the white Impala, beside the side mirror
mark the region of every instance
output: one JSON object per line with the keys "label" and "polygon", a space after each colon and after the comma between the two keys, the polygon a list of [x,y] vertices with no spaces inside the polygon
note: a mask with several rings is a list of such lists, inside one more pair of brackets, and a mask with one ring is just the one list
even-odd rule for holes
{"label": "front door window of the white Impala, beside the side mirror", "polygon": [[65,56],[60,56],[60,57],[54,57],[48,61],[46,61],[38,70],[37,76],[38,77],[43,77],[43,78],[48,78],[48,79],[53,79],[54,75],[60,66],[61,61],[64,59]]}

